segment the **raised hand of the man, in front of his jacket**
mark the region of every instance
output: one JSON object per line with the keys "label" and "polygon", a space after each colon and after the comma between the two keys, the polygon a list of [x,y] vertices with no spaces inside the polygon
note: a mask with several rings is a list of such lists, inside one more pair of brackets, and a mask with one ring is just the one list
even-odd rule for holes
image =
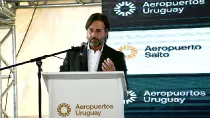
{"label": "raised hand of the man, in front of his jacket", "polygon": [[115,66],[111,59],[107,58],[107,60],[104,60],[104,62],[102,63],[102,70],[115,71]]}

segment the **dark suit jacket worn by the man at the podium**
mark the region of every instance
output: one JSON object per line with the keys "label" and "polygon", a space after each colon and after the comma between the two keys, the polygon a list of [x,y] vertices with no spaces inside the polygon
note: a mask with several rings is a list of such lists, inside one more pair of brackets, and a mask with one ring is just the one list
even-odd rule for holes
{"label": "dark suit jacket worn by the man at the podium", "polygon": [[[124,71],[125,80],[128,87],[127,67],[124,54],[122,52],[112,49],[104,43],[97,71],[103,71],[101,68],[102,63],[107,58],[110,58],[112,60],[115,65],[116,71]],[[63,65],[60,66],[60,72],[65,71],[88,71],[87,48],[82,51],[82,56],[80,55],[80,51],[67,52]]]}

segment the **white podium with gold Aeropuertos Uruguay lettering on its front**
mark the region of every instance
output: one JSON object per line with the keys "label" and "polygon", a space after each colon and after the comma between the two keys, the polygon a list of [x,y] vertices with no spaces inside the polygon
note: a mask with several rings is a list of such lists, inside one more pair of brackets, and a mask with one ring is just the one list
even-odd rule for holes
{"label": "white podium with gold Aeropuertos Uruguay lettering on its front", "polygon": [[124,118],[124,73],[42,73],[49,93],[49,118]]}

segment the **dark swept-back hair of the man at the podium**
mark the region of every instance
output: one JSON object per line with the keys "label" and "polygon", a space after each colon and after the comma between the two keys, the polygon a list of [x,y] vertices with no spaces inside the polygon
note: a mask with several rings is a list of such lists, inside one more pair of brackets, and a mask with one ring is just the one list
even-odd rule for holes
{"label": "dark swept-back hair of the man at the podium", "polygon": [[[93,21],[95,20],[102,21],[104,23],[105,30],[108,30],[108,31],[110,30],[108,17],[101,13],[92,14],[86,22],[85,29],[87,30],[90,27],[90,25],[93,23]],[[108,39],[108,36],[106,37],[106,39]]]}

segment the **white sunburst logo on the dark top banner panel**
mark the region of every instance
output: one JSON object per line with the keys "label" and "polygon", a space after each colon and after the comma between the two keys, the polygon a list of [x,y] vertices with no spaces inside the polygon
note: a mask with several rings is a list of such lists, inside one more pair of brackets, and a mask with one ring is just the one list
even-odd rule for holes
{"label": "white sunburst logo on the dark top banner panel", "polygon": [[128,16],[134,13],[136,6],[132,2],[122,1],[116,4],[114,11],[117,15]]}

